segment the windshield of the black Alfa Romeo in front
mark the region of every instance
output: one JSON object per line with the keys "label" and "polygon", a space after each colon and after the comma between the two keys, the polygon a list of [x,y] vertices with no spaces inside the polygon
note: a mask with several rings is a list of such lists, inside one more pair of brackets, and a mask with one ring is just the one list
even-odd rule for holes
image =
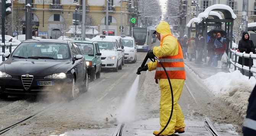
{"label": "windshield of the black Alfa Romeo in front", "polygon": [[69,59],[68,44],[31,42],[21,43],[11,54],[23,59]]}

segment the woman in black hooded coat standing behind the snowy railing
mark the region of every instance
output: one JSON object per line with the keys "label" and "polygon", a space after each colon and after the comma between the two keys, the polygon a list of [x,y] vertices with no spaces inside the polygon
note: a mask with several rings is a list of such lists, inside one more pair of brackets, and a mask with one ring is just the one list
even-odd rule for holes
{"label": "woman in black hooded coat standing behind the snowy railing", "polygon": [[[240,52],[245,52],[247,54],[250,54],[250,52],[255,52],[253,41],[250,40],[250,36],[248,32],[243,32],[242,40],[238,42],[238,49]],[[245,61],[244,66],[249,66],[249,58],[245,58],[244,61]],[[239,57],[238,64],[242,65],[242,57]],[[251,60],[251,66],[253,66],[253,59]],[[249,76],[249,72],[244,71],[244,75]]]}

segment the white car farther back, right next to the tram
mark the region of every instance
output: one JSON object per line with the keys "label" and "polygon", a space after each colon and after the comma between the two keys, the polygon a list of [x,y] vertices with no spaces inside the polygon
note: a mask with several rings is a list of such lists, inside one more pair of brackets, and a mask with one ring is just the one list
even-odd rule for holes
{"label": "white car farther back, right next to the tram", "polygon": [[122,36],[123,46],[125,49],[125,62],[135,63],[137,61],[137,48],[135,40],[130,36]]}

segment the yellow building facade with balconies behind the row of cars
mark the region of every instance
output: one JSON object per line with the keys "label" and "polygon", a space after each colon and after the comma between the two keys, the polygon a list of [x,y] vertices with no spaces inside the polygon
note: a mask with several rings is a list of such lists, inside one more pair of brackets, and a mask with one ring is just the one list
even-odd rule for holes
{"label": "yellow building facade with balconies behind the row of cars", "polygon": [[[74,37],[81,36],[81,21],[83,17],[83,0],[31,0],[32,11],[32,35],[39,36],[41,38],[57,39],[58,37],[65,35]],[[84,0],[86,1],[86,25],[93,27],[86,27],[86,37],[92,38],[97,34],[105,34],[106,31],[106,3],[107,0]],[[131,14],[137,14],[137,12],[131,12],[138,0],[108,0],[109,3],[109,21],[108,30],[109,35],[122,35],[126,30],[126,35],[130,33],[130,17]],[[121,7],[122,4],[122,7]],[[137,7],[137,6],[136,6]],[[121,12],[122,8],[122,12]],[[126,10],[125,10],[126,8]],[[26,0],[13,0],[12,5],[12,20],[18,19],[16,13],[21,14],[23,22],[26,21]],[[121,21],[122,13],[122,21]],[[126,13],[126,14],[124,14]],[[66,25],[66,30],[61,30],[59,26],[61,24]],[[75,30],[73,30],[75,28]],[[121,28],[121,29],[120,29]],[[73,31],[70,31],[70,30]],[[90,30],[93,29],[93,30]],[[19,34],[25,34],[26,26],[23,23],[22,30]],[[93,35],[91,34],[91,32]],[[9,33],[12,34],[9,34]],[[17,35],[15,30],[10,30],[8,35]],[[90,33],[89,33],[90,32]],[[99,33],[97,33],[99,32]]]}

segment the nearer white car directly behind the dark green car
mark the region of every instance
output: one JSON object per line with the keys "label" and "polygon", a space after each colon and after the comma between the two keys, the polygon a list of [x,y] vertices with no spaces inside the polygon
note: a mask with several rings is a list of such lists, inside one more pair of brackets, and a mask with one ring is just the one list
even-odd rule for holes
{"label": "nearer white car directly behind the dark green car", "polygon": [[122,70],[122,48],[118,46],[118,39],[115,36],[100,35],[91,41],[97,41],[99,44],[102,69],[113,69],[114,72]]}

